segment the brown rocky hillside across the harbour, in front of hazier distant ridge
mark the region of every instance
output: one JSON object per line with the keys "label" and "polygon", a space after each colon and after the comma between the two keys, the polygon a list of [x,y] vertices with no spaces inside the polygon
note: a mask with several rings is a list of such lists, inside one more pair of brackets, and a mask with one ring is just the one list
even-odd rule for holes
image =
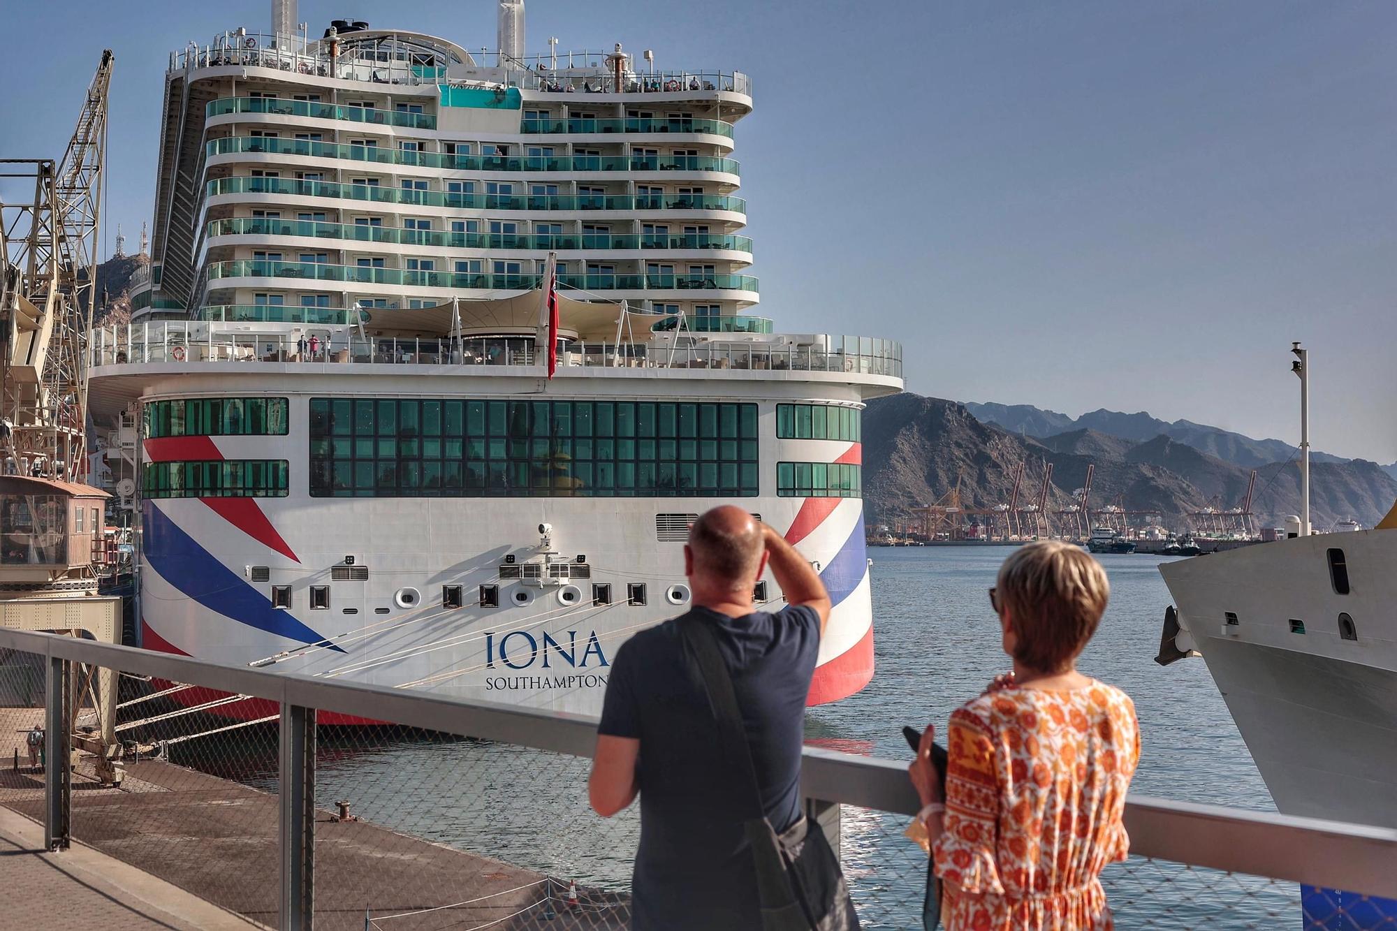
{"label": "brown rocky hillside across the harbour, in front of hazier distant ridge", "polygon": [[[1031,499],[1042,481],[1044,463],[1053,464],[1049,507],[1066,507],[1095,466],[1092,500],[1105,505],[1123,496],[1136,510],[1161,510],[1183,528],[1185,514],[1214,496],[1225,506],[1246,493],[1252,470],[1210,456],[1169,436],[1146,442],[1094,429],[1035,439],[985,424],[956,401],[894,394],[869,403],[863,414],[863,492],[870,521],[909,514],[961,481],[971,506],[1009,500],[1014,471],[1027,463],[1021,499]],[[1260,526],[1281,526],[1299,500],[1294,463],[1257,466],[1253,510]],[[1397,479],[1382,467],[1354,460],[1316,463],[1312,472],[1312,517],[1316,527],[1354,517],[1372,526],[1397,500]]]}

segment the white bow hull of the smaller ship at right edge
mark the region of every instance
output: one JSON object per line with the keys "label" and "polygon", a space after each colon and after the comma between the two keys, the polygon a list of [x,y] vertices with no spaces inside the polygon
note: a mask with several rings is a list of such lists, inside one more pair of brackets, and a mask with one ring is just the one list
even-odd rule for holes
{"label": "white bow hull of the smaller ship at right edge", "polygon": [[1179,611],[1176,644],[1203,654],[1282,814],[1397,828],[1394,568],[1391,530],[1160,568]]}

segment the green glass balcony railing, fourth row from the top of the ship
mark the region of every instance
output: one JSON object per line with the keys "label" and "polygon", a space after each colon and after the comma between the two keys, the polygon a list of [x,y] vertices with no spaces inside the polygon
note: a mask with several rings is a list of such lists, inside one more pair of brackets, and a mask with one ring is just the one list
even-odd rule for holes
{"label": "green glass balcony railing, fourth row from the top of the ship", "polygon": [[447,249],[728,249],[752,253],[752,239],[749,236],[729,236],[724,233],[640,236],[612,233],[482,233],[447,232],[440,229],[400,229],[398,226],[369,226],[367,224],[328,224],[310,219],[267,219],[263,217],[233,217],[231,219],[214,219],[208,224],[208,236],[258,235],[386,242],[409,246],[441,246]]}

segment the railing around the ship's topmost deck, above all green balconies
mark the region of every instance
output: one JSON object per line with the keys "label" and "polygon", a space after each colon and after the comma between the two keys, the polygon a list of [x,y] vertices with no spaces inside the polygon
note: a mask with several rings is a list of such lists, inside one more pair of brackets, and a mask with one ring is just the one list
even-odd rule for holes
{"label": "railing around the ship's topmost deck, above all green balconies", "polygon": [[[419,87],[444,84],[451,62],[441,53],[425,55],[416,48],[384,49],[381,43],[356,48],[353,34],[341,36],[344,52],[331,57],[309,36],[226,34],[208,45],[190,43],[170,52],[169,70],[189,67],[263,67],[293,74],[334,77],[370,84]],[[742,71],[721,68],[636,68],[626,67],[620,81],[606,63],[609,52],[559,52],[510,59],[495,52],[471,53],[478,70],[493,71],[482,82],[553,94],[680,94],[722,91],[752,96],[752,78]],[[468,66],[471,67],[471,66]],[[497,77],[499,80],[492,80]]]}

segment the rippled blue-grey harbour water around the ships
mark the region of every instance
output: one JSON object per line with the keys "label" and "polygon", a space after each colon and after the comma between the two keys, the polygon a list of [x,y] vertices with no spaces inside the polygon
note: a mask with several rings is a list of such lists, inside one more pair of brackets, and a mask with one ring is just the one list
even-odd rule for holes
{"label": "rippled blue-grey harbour water around the ships", "polygon": [[[812,709],[806,737],[831,749],[909,760],[902,724],[944,727],[957,705],[1009,668],[988,589],[1013,551],[870,552],[877,671],[858,695]],[[1099,559],[1111,604],[1080,668],[1134,699],[1143,751],[1133,791],[1274,811],[1203,661],[1168,668],[1153,661],[1169,605],[1157,570],[1164,558]],[[546,875],[627,888],[638,819],[634,807],[608,822],[588,809],[585,760],[474,741],[365,738],[353,731],[323,735],[320,798],[352,800],[355,812],[374,823]],[[218,774],[272,790],[274,755],[247,749]],[[916,921],[926,861],[901,836],[905,822],[883,812],[842,812],[844,864],[865,927],[907,928]],[[1288,883],[1137,858],[1109,867],[1104,882],[1118,927],[1301,924],[1298,889]]]}

